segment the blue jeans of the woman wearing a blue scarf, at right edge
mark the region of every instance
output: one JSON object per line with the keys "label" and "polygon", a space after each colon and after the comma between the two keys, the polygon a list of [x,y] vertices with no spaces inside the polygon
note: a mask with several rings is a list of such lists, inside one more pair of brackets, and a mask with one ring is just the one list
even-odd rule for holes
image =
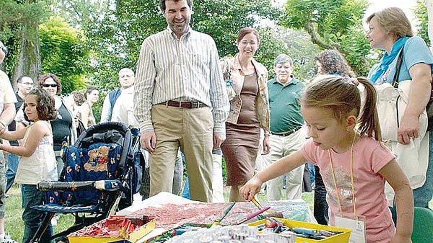
{"label": "blue jeans of the woman wearing a blue scarf, at right edge", "polygon": [[429,208],[433,196],[433,132],[430,132],[429,167],[427,168],[426,182],[420,188],[413,190],[415,207]]}

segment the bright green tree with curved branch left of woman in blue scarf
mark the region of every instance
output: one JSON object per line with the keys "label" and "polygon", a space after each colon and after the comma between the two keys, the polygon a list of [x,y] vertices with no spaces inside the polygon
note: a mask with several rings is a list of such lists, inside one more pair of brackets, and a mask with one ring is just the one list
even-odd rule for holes
{"label": "bright green tree with curved branch left of woman in blue scarf", "polygon": [[337,49],[358,75],[371,67],[362,19],[367,0],[288,0],[284,26],[305,29],[322,49]]}

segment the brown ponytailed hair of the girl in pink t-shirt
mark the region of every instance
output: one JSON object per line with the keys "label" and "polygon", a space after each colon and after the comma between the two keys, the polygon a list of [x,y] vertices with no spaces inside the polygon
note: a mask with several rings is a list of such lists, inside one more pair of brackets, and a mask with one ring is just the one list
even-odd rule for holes
{"label": "brown ponytailed hair of the girl in pink t-shirt", "polygon": [[357,83],[362,83],[367,93],[364,109],[357,121],[358,131],[361,135],[367,134],[374,136],[377,141],[382,141],[376,109],[376,89],[365,78],[332,76],[313,82],[304,92],[301,105],[332,109],[334,117],[339,121],[349,115],[359,117],[361,95]]}

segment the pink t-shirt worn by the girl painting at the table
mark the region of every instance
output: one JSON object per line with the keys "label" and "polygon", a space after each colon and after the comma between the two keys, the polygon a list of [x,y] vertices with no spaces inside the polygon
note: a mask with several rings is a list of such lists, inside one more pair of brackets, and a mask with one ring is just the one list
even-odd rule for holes
{"label": "pink t-shirt worn by the girl painting at the table", "polygon": [[[340,213],[337,193],[343,214],[353,216],[352,183],[350,179],[350,149],[342,154],[331,149],[338,191],[332,178],[328,150],[322,150],[309,139],[302,148],[304,157],[319,166],[326,187],[331,225],[335,213]],[[385,197],[385,179],[378,173],[394,159],[383,144],[366,135],[353,146],[353,178],[357,215],[366,217],[367,242],[387,243],[395,234],[395,227]]]}

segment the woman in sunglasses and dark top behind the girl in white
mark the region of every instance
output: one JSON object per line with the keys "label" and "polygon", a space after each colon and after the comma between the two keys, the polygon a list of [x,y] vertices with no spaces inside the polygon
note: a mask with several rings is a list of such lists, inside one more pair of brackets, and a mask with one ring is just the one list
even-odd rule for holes
{"label": "woman in sunglasses and dark top behind the girl in white", "polygon": [[[55,74],[47,73],[39,76],[36,83],[38,88],[42,88],[54,98],[55,108],[57,110],[57,118],[51,121],[53,129],[54,153],[57,160],[57,172],[60,176],[63,168],[62,157],[62,142],[65,137],[68,137],[69,144],[73,144],[77,139],[77,124],[74,119],[75,115],[72,108],[59,95],[62,92],[62,83]],[[15,121],[21,122],[24,125],[29,125],[24,119],[23,109],[20,109],[15,117]]]}

